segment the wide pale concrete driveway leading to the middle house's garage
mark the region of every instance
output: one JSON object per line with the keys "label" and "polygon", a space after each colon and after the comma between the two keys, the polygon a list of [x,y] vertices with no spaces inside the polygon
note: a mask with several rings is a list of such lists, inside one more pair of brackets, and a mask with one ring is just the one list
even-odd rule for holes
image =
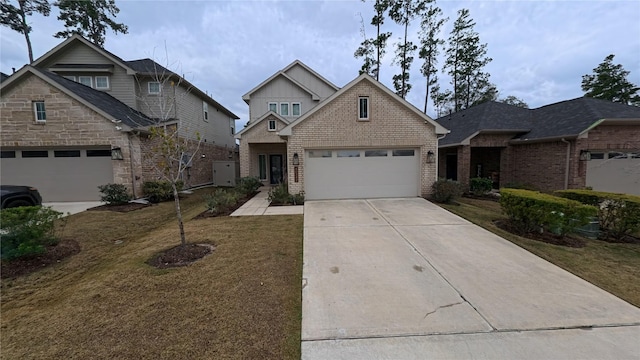
{"label": "wide pale concrete driveway leading to the middle house's garage", "polygon": [[640,309],[420,199],[309,201],[303,359],[638,359]]}

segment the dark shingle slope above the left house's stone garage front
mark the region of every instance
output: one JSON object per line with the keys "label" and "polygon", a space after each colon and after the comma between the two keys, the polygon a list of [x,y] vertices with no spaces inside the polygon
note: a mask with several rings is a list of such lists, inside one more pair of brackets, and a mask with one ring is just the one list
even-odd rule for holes
{"label": "dark shingle slope above the left house's stone garage front", "polygon": [[34,71],[40,72],[49,79],[55,81],[59,85],[73,92],[75,95],[93,104],[93,106],[97,107],[98,109],[113,116],[114,119],[122,121],[123,124],[131,128],[156,124],[155,120],[147,117],[146,115],[135,109],[130,108],[120,100],[105,93],[104,91],[92,89],[88,86],[65,79],[64,77],[56,75],[49,71],[44,71],[38,68],[32,69]]}

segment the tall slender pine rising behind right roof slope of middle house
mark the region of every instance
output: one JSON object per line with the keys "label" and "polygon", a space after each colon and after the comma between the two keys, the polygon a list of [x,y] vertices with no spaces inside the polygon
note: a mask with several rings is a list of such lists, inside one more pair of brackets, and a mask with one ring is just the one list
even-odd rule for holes
{"label": "tall slender pine rising behind right roof slope of middle house", "polygon": [[420,23],[420,51],[418,57],[424,59],[420,72],[426,79],[427,91],[424,96],[424,113],[427,113],[429,89],[438,83],[438,55],[444,45],[444,40],[438,38],[442,25],[449,18],[442,18],[442,10],[434,5],[429,6]]}

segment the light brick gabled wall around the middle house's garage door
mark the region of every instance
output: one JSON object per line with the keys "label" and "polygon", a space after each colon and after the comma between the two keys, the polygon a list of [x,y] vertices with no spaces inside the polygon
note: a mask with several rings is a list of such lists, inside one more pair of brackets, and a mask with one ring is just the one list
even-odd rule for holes
{"label": "light brick gabled wall around the middle house's garage door", "polygon": [[[358,96],[369,96],[369,121],[358,121]],[[437,152],[433,126],[366,80],[293,128],[287,158],[299,154],[299,182],[294,182],[294,171],[289,171],[289,191],[304,190],[305,149],[371,147],[418,148],[421,194],[430,194],[436,180],[436,162],[427,164],[425,159],[429,150]]]}

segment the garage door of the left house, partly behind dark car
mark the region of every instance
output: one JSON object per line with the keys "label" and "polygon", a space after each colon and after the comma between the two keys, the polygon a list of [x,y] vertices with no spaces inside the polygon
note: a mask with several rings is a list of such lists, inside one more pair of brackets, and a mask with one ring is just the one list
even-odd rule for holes
{"label": "garage door of the left house, partly behind dark car", "polygon": [[35,186],[43,202],[100,200],[113,182],[110,149],[2,150],[2,183]]}

